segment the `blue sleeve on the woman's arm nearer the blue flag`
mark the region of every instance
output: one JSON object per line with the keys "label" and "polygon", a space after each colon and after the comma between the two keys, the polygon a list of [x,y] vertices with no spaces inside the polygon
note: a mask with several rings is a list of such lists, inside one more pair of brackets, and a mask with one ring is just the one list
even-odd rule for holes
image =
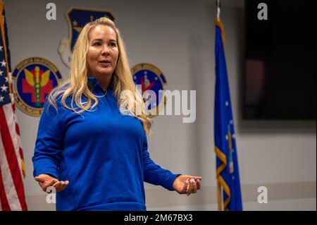
{"label": "blue sleeve on the woman's arm nearer the blue flag", "polygon": [[149,157],[147,147],[147,135],[144,135],[142,144],[144,181],[156,186],[162,186],[163,188],[166,188],[168,190],[174,190],[173,183],[175,181],[175,178],[180,176],[180,174],[173,174],[169,170],[163,169],[161,168],[161,166],[155,164],[153,160]]}

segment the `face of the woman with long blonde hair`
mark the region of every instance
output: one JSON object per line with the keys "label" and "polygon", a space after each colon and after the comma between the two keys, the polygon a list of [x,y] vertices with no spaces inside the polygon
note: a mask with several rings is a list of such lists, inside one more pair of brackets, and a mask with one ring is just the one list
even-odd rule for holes
{"label": "face of the woman with long blonde hair", "polygon": [[107,25],[97,25],[89,32],[87,63],[89,75],[112,75],[116,68],[119,49],[116,32]]}

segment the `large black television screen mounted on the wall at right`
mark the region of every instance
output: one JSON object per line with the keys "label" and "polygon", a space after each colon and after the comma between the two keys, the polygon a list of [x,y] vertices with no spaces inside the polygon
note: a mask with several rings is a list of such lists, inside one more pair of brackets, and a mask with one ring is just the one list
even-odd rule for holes
{"label": "large black television screen mounted on the wall at right", "polygon": [[245,23],[242,117],[316,120],[316,0],[246,0]]}

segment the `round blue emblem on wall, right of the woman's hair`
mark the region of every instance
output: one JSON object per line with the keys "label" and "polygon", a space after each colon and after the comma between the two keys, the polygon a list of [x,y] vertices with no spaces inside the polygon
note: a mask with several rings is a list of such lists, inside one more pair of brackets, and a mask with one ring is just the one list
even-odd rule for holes
{"label": "round blue emblem on wall, right of the woman's hair", "polygon": [[144,92],[151,90],[145,95],[147,99],[143,98],[144,102],[146,102],[149,116],[158,115],[166,104],[166,97],[162,93],[165,91],[167,82],[162,71],[150,63],[139,63],[133,66],[131,71],[135,85],[142,87],[143,97]]}

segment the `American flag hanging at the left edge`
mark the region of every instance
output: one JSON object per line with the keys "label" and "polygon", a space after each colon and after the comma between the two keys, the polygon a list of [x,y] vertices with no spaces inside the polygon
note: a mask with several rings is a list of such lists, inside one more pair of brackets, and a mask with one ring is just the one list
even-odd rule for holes
{"label": "American flag hanging at the left edge", "polygon": [[4,4],[0,2],[0,211],[27,210],[20,131],[11,101],[11,65]]}

